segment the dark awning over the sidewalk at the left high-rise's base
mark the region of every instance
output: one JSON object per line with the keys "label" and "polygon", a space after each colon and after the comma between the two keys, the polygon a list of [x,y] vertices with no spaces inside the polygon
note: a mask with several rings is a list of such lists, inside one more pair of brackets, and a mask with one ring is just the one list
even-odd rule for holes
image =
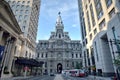
{"label": "dark awning over the sidewalk at the left high-rise's base", "polygon": [[15,60],[15,64],[20,64],[20,65],[26,65],[26,66],[33,66],[33,67],[41,67],[43,61],[37,61],[35,59],[27,59],[23,57],[18,57],[17,60]]}

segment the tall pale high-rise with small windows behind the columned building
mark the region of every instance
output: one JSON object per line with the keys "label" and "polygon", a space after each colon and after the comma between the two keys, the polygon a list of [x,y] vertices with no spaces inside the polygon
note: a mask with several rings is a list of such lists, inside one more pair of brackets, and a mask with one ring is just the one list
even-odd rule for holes
{"label": "tall pale high-rise with small windows behind the columned building", "polygon": [[22,53],[20,57],[35,57],[36,36],[41,0],[6,0],[20,25],[23,32]]}

